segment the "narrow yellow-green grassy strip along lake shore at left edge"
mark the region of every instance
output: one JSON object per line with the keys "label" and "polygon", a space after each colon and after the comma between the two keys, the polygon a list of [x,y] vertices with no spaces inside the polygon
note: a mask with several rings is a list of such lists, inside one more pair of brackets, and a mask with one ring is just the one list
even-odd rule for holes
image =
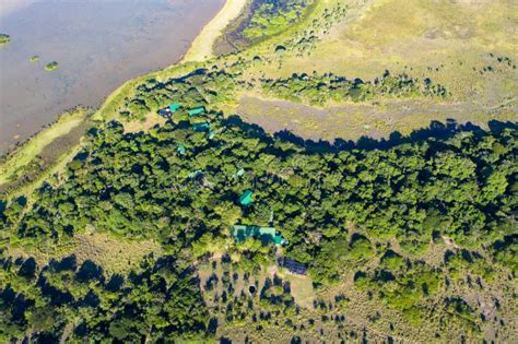
{"label": "narrow yellow-green grassy strip along lake shore at left edge", "polygon": [[59,117],[58,121],[38,132],[25,144],[17,147],[8,155],[4,163],[0,165],[0,186],[10,181],[23,167],[30,164],[44,149],[59,137],[68,134],[85,120],[89,111],[78,108]]}

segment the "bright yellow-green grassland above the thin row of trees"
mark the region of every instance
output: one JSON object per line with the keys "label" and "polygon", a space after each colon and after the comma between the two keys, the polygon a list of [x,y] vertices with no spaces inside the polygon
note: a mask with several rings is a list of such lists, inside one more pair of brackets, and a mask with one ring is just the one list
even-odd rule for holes
{"label": "bright yellow-green grassland above the thin row of trees", "polygon": [[[337,3],[319,2],[314,17]],[[274,47],[287,39],[285,35],[251,49],[250,56],[268,62],[250,69],[250,78],[317,71],[372,80],[387,69],[392,74],[431,78],[446,85],[456,99],[498,103],[516,95],[517,70],[481,71],[499,68],[490,54],[516,56],[518,39],[510,34],[517,29],[516,10],[516,3],[506,0],[350,3],[346,15],[319,34],[315,48],[305,54],[276,56]],[[290,35],[296,35],[296,29]],[[492,92],[495,87],[498,92]]]}

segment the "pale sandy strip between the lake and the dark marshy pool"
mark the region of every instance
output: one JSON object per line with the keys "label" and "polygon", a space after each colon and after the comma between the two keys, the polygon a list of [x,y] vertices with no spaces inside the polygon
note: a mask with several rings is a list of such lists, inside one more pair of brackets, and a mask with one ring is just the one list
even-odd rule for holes
{"label": "pale sandy strip between the lake and the dark marshy pool", "polygon": [[226,0],[221,11],[201,29],[187,50],[183,62],[202,62],[213,58],[212,46],[223,29],[245,9],[247,0]]}

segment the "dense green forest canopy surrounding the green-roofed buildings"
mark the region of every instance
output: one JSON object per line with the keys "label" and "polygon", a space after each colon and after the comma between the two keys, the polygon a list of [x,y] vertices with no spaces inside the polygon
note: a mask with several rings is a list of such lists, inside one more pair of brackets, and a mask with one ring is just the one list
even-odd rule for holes
{"label": "dense green forest canopy surrounding the green-roofed buildings", "polygon": [[[175,94],[180,104],[193,99],[185,85],[186,93]],[[214,252],[246,258],[239,268],[248,272],[274,262],[272,245],[234,244],[235,224],[274,225],[290,242],[285,254],[309,268],[316,286],[354,272],[360,290],[412,323],[433,311],[446,273],[455,278],[466,269],[481,284],[516,274],[514,126],[454,130],[390,149],[319,151],[208,110],[190,117],[180,109],[148,132],[125,133],[115,121],[92,128],[59,181],[44,185],[28,203],[3,201],[3,237],[24,247],[96,230],[154,239],[169,254],[150,256],[138,271],[110,278],[73,256],[44,268],[33,258],[4,256],[3,340],[26,329],[42,341],[56,336],[74,309],[76,337],[211,335],[191,262]],[[193,130],[200,122],[213,134]],[[254,192],[249,206],[238,203],[245,190]],[[451,250],[432,265],[425,257],[440,240],[454,242]],[[452,311],[442,317],[478,333],[480,320],[464,304],[445,298],[443,307]]]}

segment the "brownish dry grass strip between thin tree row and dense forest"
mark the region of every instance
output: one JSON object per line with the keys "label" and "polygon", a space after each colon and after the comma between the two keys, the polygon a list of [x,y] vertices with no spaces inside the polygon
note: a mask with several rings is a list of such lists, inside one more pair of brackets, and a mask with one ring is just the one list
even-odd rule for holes
{"label": "brownish dry grass strip between thin tree row and dense forest", "polygon": [[445,123],[452,119],[482,128],[486,128],[490,120],[517,120],[511,107],[492,111],[468,103],[454,105],[429,100],[396,100],[378,105],[351,103],[317,108],[286,100],[242,97],[236,112],[271,133],[287,129],[305,139],[330,142],[334,139],[356,141],[362,137],[388,139],[396,131],[408,135],[427,128],[433,120]]}

